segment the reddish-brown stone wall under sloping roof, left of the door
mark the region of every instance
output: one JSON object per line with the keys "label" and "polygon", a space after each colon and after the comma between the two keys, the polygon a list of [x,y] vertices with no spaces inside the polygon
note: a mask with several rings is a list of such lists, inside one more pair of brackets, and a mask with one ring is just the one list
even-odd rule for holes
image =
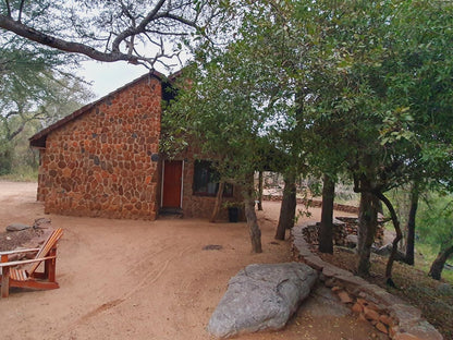
{"label": "reddish-brown stone wall under sloping roof, left of the door", "polygon": [[45,211],[155,219],[160,101],[160,81],[145,77],[52,131],[40,154]]}

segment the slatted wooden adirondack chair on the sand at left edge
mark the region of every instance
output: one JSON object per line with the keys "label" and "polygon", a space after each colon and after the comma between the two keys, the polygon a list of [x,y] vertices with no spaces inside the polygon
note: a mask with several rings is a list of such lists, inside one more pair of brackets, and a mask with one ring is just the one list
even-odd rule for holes
{"label": "slatted wooden adirondack chair on the sand at left edge", "polygon": [[[59,288],[56,281],[57,242],[63,234],[58,228],[52,231],[40,248],[0,252],[1,263],[1,296],[8,298],[10,287],[22,287],[32,289],[56,289]],[[12,254],[37,252],[34,259],[9,262]],[[44,271],[38,272],[39,265],[44,263]],[[23,269],[23,265],[30,265]],[[16,268],[21,266],[21,268]]]}

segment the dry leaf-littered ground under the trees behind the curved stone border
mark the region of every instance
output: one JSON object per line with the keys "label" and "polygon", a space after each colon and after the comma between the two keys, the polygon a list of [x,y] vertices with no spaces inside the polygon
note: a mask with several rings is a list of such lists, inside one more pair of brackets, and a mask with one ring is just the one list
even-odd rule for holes
{"label": "dry leaf-littered ground under the trees behind the curved stone border", "polygon": [[[348,250],[335,247],[333,255],[319,255],[323,260],[338,267],[352,272],[355,270],[356,257]],[[421,309],[423,316],[445,339],[453,339],[453,282],[433,280],[426,272],[413,266],[395,262],[393,265],[393,281],[396,288],[390,288],[385,286],[384,280],[385,265],[385,257],[372,254],[370,276],[365,279]]]}

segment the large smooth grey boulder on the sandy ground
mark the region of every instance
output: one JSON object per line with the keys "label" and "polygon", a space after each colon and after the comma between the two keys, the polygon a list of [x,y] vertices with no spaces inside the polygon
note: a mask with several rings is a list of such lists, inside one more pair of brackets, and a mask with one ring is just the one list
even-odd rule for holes
{"label": "large smooth grey boulder on the sandy ground", "polygon": [[318,274],[299,263],[249,265],[229,282],[209,320],[219,338],[264,329],[280,329],[307,298]]}

